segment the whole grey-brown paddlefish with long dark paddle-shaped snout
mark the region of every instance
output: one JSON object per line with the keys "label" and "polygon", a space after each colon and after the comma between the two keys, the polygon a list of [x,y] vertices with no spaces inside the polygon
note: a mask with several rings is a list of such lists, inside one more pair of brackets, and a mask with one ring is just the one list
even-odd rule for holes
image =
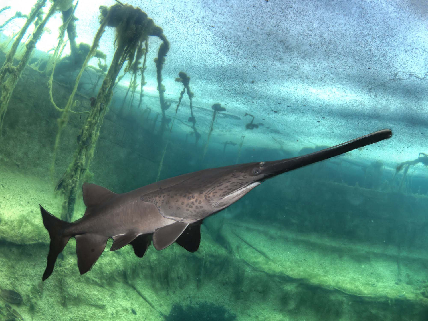
{"label": "whole grey-brown paddlefish with long dark paddle-shaped snout", "polygon": [[77,221],[61,221],[40,205],[43,224],[51,238],[42,279],[51,275],[57,256],[71,237],[76,239],[81,274],[89,271],[110,237],[113,238],[111,251],[131,244],[139,257],[143,257],[152,241],[157,250],[176,241],[194,252],[199,247],[202,221],[235,203],[265,180],[391,135],[391,130],[380,130],[303,156],[205,169],[122,194],[84,183],[86,212]]}

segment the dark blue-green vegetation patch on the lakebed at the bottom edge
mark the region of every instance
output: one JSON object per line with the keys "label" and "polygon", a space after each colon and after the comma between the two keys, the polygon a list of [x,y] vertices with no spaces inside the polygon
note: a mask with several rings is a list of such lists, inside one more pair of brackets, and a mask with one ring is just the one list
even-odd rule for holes
{"label": "dark blue-green vegetation patch on the lakebed at the bottom edge", "polygon": [[213,303],[199,302],[196,305],[182,306],[175,303],[172,306],[166,321],[232,321],[236,315],[230,313],[223,306],[217,306]]}

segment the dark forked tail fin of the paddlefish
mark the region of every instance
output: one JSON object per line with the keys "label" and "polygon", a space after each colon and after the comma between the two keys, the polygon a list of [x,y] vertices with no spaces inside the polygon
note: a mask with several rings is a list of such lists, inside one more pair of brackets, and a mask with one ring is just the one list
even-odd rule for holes
{"label": "dark forked tail fin of the paddlefish", "polygon": [[46,265],[45,273],[43,273],[42,277],[42,280],[44,281],[51,275],[55,266],[56,258],[58,257],[59,253],[62,252],[71,237],[64,236],[63,231],[72,223],[68,223],[66,221],[60,220],[59,218],[56,218],[47,210],[45,210],[42,205],[40,205],[40,212],[42,212],[43,225],[45,225],[46,230],[48,230],[49,237],[51,238],[51,244],[49,245],[48,253],[48,264]]}

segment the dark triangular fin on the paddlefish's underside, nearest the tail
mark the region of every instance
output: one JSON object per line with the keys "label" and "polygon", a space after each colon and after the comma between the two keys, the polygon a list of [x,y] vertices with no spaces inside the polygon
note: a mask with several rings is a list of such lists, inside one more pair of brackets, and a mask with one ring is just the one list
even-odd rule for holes
{"label": "dark triangular fin on the paddlefish's underside, nearest the tail", "polygon": [[76,239],[77,266],[80,274],[86,273],[97,262],[101,253],[103,253],[107,236],[97,234],[80,234],[74,236]]}

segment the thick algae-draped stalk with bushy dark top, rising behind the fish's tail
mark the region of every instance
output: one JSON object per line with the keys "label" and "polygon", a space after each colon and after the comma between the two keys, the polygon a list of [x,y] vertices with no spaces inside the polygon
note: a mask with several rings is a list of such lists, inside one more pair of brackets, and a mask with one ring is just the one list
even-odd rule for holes
{"label": "thick algae-draped stalk with bushy dark top, rising behind the fish's tail", "polygon": [[[143,43],[147,41],[149,35],[166,39],[162,29],[156,26],[153,20],[148,18],[147,14],[139,8],[117,3],[110,8],[101,6],[100,11],[101,25],[86,60],[89,60],[96,53],[96,48],[106,27],[116,28],[116,50],[107,75],[96,96],[94,106],[81,130],[73,162],[56,186],[56,191],[60,191],[65,198],[61,217],[66,221],[72,219],[80,180],[86,174],[93,157],[101,124],[113,96],[113,88],[116,85],[119,71],[125,62],[127,64],[124,68],[124,74],[130,70],[137,70],[138,61],[144,54]],[[83,72],[83,67],[80,72]]]}

